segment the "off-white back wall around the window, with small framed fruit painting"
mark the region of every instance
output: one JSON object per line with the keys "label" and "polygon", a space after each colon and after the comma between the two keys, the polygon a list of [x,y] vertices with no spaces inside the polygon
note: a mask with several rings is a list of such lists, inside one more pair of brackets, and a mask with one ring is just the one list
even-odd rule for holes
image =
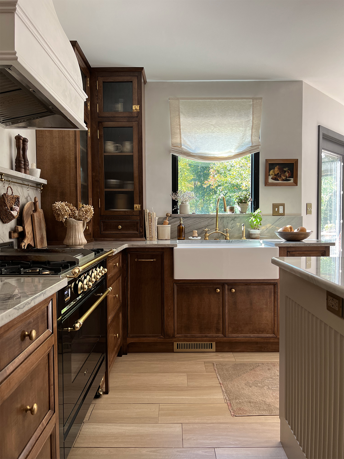
{"label": "off-white back wall around the window, with small framed fruit painting", "polygon": [[[169,97],[262,97],[260,207],[272,214],[272,202],[285,202],[285,212],[301,215],[301,180],[298,186],[264,186],[265,159],[302,155],[302,82],[148,82],[146,99],[147,207],[157,215],[171,212],[171,132]],[[215,199],[215,196],[214,196]]]}

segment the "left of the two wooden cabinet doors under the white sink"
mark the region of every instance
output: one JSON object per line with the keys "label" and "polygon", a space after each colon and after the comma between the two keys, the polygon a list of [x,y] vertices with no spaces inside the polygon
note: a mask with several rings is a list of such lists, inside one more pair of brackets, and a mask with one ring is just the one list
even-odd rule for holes
{"label": "left of the two wooden cabinet doors under the white sink", "polygon": [[224,284],[175,284],[175,336],[225,336]]}

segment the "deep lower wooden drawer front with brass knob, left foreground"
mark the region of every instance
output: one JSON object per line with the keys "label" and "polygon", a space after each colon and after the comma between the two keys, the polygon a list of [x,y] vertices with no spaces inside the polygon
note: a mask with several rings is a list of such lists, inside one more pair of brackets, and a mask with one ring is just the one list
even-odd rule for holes
{"label": "deep lower wooden drawer front with brass knob, left foreground", "polygon": [[[51,336],[0,385],[1,458],[26,457],[54,414],[53,343]],[[34,403],[37,413],[26,412]]]}

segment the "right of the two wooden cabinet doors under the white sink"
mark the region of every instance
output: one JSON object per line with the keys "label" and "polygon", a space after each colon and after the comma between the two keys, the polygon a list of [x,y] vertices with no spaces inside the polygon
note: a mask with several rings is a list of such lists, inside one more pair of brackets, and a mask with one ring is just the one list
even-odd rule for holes
{"label": "right of the two wooden cabinet doors under the white sink", "polygon": [[226,289],[226,336],[277,336],[277,283],[233,283]]}

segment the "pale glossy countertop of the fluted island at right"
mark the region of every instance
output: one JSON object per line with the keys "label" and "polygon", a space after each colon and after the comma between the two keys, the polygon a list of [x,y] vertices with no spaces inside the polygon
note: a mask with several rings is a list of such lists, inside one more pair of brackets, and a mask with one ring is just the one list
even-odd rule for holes
{"label": "pale glossy countertop of the fluted island at right", "polygon": [[344,257],[274,257],[272,264],[344,297]]}

